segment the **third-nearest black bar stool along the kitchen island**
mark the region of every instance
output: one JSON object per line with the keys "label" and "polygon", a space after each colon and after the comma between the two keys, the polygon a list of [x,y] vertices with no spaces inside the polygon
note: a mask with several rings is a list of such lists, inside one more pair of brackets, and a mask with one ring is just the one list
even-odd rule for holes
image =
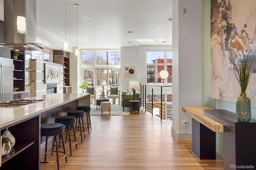
{"label": "third-nearest black bar stool along the kitchen island", "polygon": [[[79,127],[80,128],[80,136],[81,136],[81,141],[83,142],[83,134],[84,134],[84,138],[85,138],[85,131],[84,131],[84,111],[80,111],[80,110],[76,110],[76,111],[68,111],[68,116],[74,116],[76,118],[76,127],[78,127],[78,123],[79,123]],[[81,121],[82,121],[82,126],[81,126]],[[83,132],[82,132],[82,128],[83,128]]]}

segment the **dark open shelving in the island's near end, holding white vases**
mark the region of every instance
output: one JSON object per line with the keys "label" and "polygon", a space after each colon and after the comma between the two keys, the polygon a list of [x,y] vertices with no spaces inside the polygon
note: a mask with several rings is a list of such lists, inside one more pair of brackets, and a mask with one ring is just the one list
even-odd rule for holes
{"label": "dark open shelving in the island's near end, holding white vases", "polygon": [[[39,164],[39,116],[8,126],[15,137],[14,150],[2,156],[1,170],[30,169],[38,170]],[[7,127],[1,128],[1,134]],[[28,130],[29,129],[29,130]]]}

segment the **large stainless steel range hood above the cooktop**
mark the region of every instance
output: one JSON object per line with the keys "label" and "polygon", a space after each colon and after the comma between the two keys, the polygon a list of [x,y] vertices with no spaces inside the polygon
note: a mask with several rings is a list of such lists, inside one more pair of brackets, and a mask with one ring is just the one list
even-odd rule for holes
{"label": "large stainless steel range hood above the cooktop", "polygon": [[[16,33],[16,17],[27,19],[27,33]],[[36,0],[4,0],[4,47],[20,51],[50,51],[36,43]]]}

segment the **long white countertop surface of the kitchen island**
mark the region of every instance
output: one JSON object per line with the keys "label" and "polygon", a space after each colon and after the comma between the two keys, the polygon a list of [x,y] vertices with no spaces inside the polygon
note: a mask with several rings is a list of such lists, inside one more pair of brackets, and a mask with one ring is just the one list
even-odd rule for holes
{"label": "long white countertop surface of the kitchen island", "polygon": [[88,95],[90,95],[90,93],[52,93],[48,95],[26,98],[38,100],[42,99],[45,101],[19,108],[0,108],[0,128]]}

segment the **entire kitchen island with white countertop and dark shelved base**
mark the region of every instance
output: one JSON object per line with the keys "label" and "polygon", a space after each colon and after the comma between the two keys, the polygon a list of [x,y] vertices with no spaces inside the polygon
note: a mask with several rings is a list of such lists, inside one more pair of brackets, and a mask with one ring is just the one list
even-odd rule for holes
{"label": "entire kitchen island with white countertop and dark shelved base", "polygon": [[27,99],[44,101],[0,108],[1,134],[8,128],[16,140],[14,150],[0,157],[1,170],[40,170],[40,144],[45,141],[40,138],[40,126],[54,123],[56,117],[67,115],[77,106],[90,106],[89,93],[52,93]]}

